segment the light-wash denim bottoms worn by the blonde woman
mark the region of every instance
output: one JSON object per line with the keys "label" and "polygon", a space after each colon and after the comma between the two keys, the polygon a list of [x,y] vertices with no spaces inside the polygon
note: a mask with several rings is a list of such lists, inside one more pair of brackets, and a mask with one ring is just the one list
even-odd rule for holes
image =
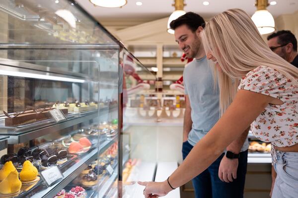
{"label": "light-wash denim bottoms worn by the blonde woman", "polygon": [[298,198],[298,152],[283,152],[272,147],[272,162],[277,177],[271,198]]}

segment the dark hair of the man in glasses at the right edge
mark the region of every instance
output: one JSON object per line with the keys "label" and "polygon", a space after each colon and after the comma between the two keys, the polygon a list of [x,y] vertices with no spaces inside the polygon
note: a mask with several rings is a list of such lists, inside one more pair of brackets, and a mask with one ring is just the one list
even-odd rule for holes
{"label": "dark hair of the man in glasses at the right edge", "polygon": [[286,45],[288,43],[291,43],[293,44],[294,51],[297,51],[297,39],[295,38],[295,35],[290,30],[281,30],[281,31],[275,32],[267,37],[267,41],[275,37],[278,37],[277,39],[278,44]]}

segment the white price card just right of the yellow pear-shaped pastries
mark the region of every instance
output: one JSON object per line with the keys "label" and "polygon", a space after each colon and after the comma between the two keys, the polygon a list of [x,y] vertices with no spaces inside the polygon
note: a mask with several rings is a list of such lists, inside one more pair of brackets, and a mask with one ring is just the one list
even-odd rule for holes
{"label": "white price card just right of the yellow pear-shaped pastries", "polygon": [[58,166],[52,166],[51,168],[42,171],[40,173],[40,176],[45,181],[48,187],[60,181],[64,177],[61,171],[59,170]]}

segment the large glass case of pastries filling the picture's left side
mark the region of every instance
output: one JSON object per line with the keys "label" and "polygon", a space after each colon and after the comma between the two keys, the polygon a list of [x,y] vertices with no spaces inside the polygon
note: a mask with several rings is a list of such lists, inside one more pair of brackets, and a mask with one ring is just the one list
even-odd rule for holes
{"label": "large glass case of pastries filling the picture's left side", "polygon": [[0,197],[117,192],[121,44],[72,0],[2,0],[0,24]]}

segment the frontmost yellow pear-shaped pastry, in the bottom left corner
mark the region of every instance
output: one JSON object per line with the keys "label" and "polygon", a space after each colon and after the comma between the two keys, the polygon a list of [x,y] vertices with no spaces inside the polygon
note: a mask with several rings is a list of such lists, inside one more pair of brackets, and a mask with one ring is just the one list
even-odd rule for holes
{"label": "frontmost yellow pear-shaped pastry, in the bottom left corner", "polygon": [[10,174],[0,182],[0,193],[1,194],[13,194],[20,191],[22,182],[18,178],[18,172],[16,169],[11,171]]}

